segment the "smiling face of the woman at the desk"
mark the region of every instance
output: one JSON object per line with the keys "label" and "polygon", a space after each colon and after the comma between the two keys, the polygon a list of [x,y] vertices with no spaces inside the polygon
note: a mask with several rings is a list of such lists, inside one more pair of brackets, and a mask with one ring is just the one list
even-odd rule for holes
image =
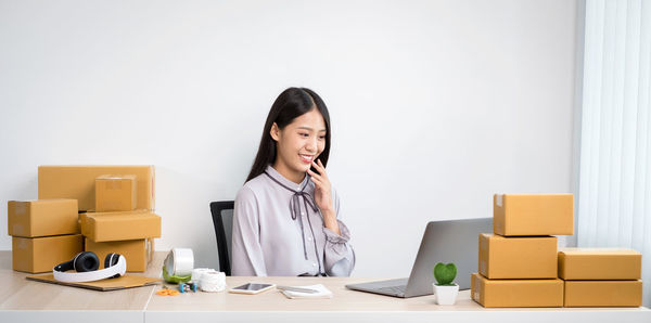
{"label": "smiling face of the woman at the desk", "polygon": [[277,142],[273,168],[301,183],[312,160],[326,148],[326,121],[317,108],[296,117],[284,129],[273,124],[271,138]]}

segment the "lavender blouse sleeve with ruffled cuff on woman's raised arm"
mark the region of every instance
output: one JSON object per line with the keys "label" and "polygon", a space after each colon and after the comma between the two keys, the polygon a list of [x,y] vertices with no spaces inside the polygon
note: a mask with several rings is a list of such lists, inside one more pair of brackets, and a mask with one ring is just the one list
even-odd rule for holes
{"label": "lavender blouse sleeve with ruffled cuff on woman's raised arm", "polygon": [[339,196],[333,190],[334,209],[336,211],[336,222],[340,227],[342,235],[334,233],[332,230],[323,227],[326,234],[324,262],[326,273],[329,276],[349,276],[355,268],[355,250],[350,245],[350,231],[348,227],[342,222],[342,212],[340,207]]}

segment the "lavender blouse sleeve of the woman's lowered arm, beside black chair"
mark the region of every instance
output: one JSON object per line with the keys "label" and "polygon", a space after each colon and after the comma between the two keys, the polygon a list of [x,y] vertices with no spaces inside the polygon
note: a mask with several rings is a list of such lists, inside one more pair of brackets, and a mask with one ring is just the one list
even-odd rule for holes
{"label": "lavender blouse sleeve of the woman's lowered arm, beside black chair", "polygon": [[266,276],[259,240],[259,208],[251,189],[243,186],[235,197],[231,246],[231,272],[238,276]]}

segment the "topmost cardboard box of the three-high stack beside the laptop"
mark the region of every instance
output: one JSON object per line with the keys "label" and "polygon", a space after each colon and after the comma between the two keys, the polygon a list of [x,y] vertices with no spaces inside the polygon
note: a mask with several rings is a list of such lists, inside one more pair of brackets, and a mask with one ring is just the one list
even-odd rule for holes
{"label": "topmost cardboard box of the three-high stack beside the laptop", "polygon": [[513,235],[574,234],[572,194],[495,194],[493,233]]}

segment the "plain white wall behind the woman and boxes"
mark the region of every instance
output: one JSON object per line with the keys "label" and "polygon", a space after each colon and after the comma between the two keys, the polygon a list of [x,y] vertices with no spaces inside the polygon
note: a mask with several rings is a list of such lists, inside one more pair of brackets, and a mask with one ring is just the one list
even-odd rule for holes
{"label": "plain white wall behind the woman and boxes", "polygon": [[38,165],[154,164],[157,249],[216,267],[208,203],[233,198],[271,103],[305,86],[330,108],[354,274],[405,276],[426,221],[570,192],[575,7],[0,0],[0,201],[36,198]]}

